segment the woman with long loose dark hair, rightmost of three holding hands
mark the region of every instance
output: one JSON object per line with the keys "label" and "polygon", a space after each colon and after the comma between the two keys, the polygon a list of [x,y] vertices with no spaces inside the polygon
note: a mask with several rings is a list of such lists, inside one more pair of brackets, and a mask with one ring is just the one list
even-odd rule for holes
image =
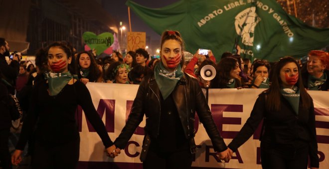
{"label": "woman with long loose dark hair, rightmost of three holding hands", "polygon": [[257,98],[250,117],[228,147],[234,152],[263,120],[261,161],[263,169],[319,168],[314,105],[303,86],[299,64],[292,57],[274,66],[272,84]]}

